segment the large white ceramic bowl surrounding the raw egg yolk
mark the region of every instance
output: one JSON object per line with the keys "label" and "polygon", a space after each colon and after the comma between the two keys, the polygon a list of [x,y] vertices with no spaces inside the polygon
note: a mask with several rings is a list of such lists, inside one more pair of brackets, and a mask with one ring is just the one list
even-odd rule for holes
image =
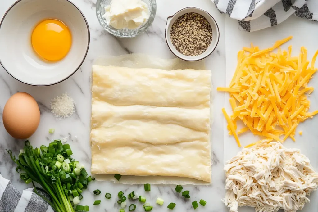
{"label": "large white ceramic bowl surrounding the raw egg yolk", "polygon": [[[31,46],[31,34],[42,20],[62,21],[72,34],[65,58],[48,63]],[[15,79],[29,85],[57,84],[82,65],[89,47],[89,27],[83,13],[69,0],[18,0],[0,23],[0,64]]]}

